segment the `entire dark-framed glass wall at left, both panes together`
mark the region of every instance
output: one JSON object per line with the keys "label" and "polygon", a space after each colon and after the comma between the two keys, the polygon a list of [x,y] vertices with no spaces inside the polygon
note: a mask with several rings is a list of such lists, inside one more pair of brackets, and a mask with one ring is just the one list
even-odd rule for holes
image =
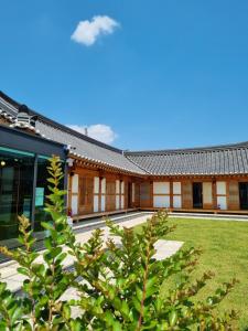
{"label": "entire dark-framed glass wall at left, both panes together", "polygon": [[48,157],[36,157],[34,186],[35,154],[0,147],[0,245],[18,245],[20,215],[30,220],[36,233],[43,232],[41,222],[51,221],[50,214],[44,211],[50,194],[47,166]]}

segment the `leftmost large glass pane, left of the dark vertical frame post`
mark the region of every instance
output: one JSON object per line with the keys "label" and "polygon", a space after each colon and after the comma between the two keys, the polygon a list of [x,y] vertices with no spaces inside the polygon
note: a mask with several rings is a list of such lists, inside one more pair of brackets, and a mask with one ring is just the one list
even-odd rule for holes
{"label": "leftmost large glass pane, left of the dark vertical frame post", "polygon": [[18,215],[31,217],[34,154],[0,147],[0,241],[18,237]]}

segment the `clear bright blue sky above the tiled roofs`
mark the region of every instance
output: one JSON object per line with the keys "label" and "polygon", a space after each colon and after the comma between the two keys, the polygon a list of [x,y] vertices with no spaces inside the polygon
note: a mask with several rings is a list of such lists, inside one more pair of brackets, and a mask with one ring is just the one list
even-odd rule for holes
{"label": "clear bright blue sky above the tiled roofs", "polygon": [[[248,140],[247,0],[0,0],[0,89],[14,99],[65,125],[109,126],[123,149]],[[73,40],[94,17],[116,25],[90,45]]]}

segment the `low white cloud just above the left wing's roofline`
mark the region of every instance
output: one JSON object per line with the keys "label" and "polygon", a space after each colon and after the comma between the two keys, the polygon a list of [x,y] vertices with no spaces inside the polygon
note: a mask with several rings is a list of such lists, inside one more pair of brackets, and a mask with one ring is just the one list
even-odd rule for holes
{"label": "low white cloud just above the left wing's roofline", "polygon": [[111,127],[98,124],[98,125],[93,125],[89,127],[86,126],[78,126],[78,125],[68,125],[71,129],[78,131],[83,135],[85,135],[85,129],[87,128],[88,136],[103,141],[105,143],[112,143],[114,140],[118,137],[117,134],[111,129]]}

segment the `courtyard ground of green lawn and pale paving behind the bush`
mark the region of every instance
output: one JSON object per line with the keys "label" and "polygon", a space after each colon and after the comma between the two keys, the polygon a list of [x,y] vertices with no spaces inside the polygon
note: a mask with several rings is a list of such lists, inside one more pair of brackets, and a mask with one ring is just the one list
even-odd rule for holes
{"label": "courtyard ground of green lawn and pale paving behind the bush", "polygon": [[[139,231],[151,213],[131,213],[126,216],[114,216],[114,221],[120,226],[136,227]],[[209,216],[208,216],[209,217]],[[214,216],[213,216],[214,217]],[[213,293],[223,282],[237,278],[239,284],[224,299],[219,306],[219,312],[231,309],[238,312],[238,324],[240,330],[246,330],[248,324],[248,222],[222,220],[222,218],[194,218],[194,216],[169,216],[169,224],[175,225],[173,233],[165,238],[160,238],[158,243],[158,258],[166,258],[174,254],[180,247],[182,249],[190,247],[201,248],[202,255],[192,278],[201,277],[205,271],[213,271],[215,277],[208,281],[207,286],[201,290],[195,300],[204,300],[208,293]],[[86,242],[91,231],[96,227],[105,229],[105,238],[109,233],[104,225],[104,221],[83,222],[74,226],[79,242]],[[165,241],[164,241],[165,239]],[[182,244],[181,244],[182,243]],[[65,260],[65,267],[71,267],[73,259]],[[2,265],[2,280],[7,281],[12,290],[17,291],[21,288],[23,277],[18,275],[17,265]],[[175,279],[170,279],[174,282]],[[164,284],[162,296],[166,292],[170,284]],[[73,298],[76,292],[72,289],[65,295],[65,299]]]}

